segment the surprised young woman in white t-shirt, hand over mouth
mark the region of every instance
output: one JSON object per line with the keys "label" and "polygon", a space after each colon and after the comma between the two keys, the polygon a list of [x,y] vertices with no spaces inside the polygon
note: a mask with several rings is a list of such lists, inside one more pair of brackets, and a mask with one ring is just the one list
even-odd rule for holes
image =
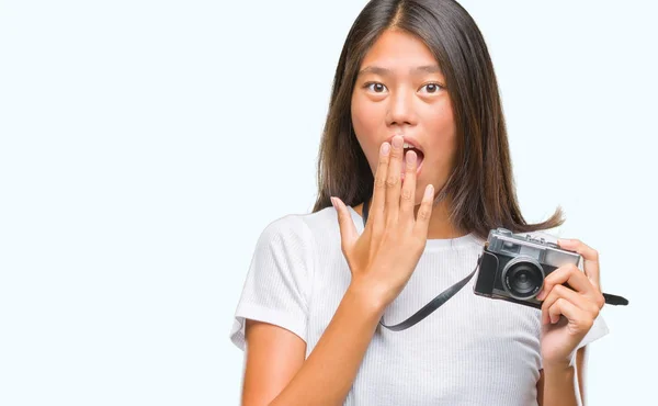
{"label": "surprised young woman in white t-shirt, hand over mouth", "polygon": [[578,240],[559,244],[585,272],[551,273],[541,311],[472,280],[412,328],[378,327],[467,275],[490,229],[561,224],[519,211],[494,68],[458,3],[367,3],[318,169],[313,213],[271,223],[256,248],[231,330],[243,405],[578,404],[585,346],[608,331],[597,251]]}

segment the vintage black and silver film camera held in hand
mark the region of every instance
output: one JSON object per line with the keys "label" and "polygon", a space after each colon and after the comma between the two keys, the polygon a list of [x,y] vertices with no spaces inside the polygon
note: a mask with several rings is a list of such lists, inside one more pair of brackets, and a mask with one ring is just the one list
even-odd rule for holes
{"label": "vintage black and silver film camera held in hand", "polygon": [[544,279],[568,263],[578,266],[580,255],[531,235],[515,235],[504,228],[489,232],[474,284],[477,295],[501,298],[541,308],[536,300]]}

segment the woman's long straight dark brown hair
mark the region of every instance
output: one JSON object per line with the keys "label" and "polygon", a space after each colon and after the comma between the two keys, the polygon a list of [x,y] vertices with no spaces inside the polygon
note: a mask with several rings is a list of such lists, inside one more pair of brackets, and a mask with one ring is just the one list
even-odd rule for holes
{"label": "woman's long straight dark brown hair", "polygon": [[445,76],[457,132],[455,166],[443,189],[452,224],[481,238],[496,227],[523,233],[561,225],[559,207],[538,224],[521,215],[491,58],[475,21],[453,0],[372,0],[354,21],[333,79],[313,212],[328,207],[330,196],[358,205],[372,195],[373,173],[354,134],[350,103],[365,54],[388,29],[419,37]]}

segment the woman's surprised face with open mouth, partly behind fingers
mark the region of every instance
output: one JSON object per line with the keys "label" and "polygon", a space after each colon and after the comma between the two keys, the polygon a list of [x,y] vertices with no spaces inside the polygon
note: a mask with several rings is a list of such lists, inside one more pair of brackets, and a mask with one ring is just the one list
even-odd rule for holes
{"label": "woman's surprised face with open mouth, partly behind fingers", "polygon": [[456,148],[452,104],[436,59],[418,37],[387,30],[373,44],[354,84],[352,123],[373,173],[382,143],[394,135],[417,148],[416,204],[428,183],[440,190],[447,180]]}

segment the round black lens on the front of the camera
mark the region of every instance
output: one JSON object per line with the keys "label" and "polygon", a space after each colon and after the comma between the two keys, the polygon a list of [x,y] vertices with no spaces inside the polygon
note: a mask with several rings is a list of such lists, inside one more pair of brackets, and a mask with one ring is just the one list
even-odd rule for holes
{"label": "round black lens on the front of the camera", "polygon": [[534,260],[520,257],[510,261],[502,272],[502,285],[508,293],[519,300],[534,297],[544,283],[544,271]]}

